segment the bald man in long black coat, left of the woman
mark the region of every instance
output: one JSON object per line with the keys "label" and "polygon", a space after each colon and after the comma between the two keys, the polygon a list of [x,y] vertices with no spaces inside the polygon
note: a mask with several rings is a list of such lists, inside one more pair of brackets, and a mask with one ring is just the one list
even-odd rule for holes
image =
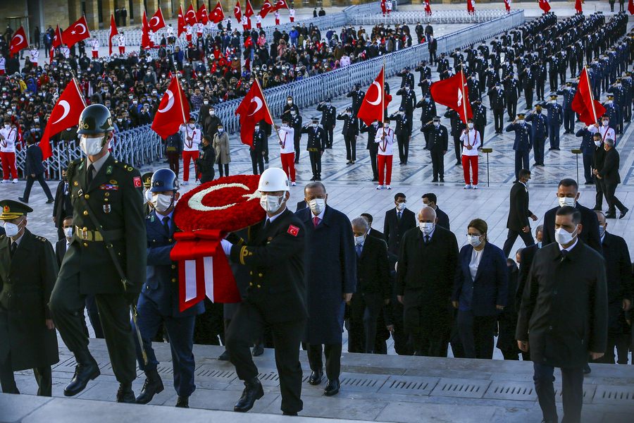
{"label": "bald man in long black coat, left of the woman", "polygon": [[436,212],[424,207],[419,228],[403,236],[397,267],[397,300],[416,355],[441,357],[451,329],[450,300],[458,265],[456,235],[437,226]]}

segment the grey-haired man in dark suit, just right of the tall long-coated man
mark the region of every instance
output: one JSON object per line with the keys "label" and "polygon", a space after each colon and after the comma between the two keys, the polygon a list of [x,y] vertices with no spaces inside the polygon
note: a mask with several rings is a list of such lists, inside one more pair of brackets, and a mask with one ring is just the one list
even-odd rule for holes
{"label": "grey-haired man in dark suit, just right of the tall long-coated man", "polygon": [[356,252],[356,293],[350,301],[349,353],[375,353],[377,321],[390,302],[392,284],[385,241],[368,236],[364,217],[352,219]]}

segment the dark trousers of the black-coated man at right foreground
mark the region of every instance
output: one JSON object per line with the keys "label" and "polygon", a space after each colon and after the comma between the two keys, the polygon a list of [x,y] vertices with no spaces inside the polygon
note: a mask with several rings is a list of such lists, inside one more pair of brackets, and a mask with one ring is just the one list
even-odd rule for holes
{"label": "dark trousers of the black-coated man at right foreground", "polygon": [[[535,392],[546,422],[558,422],[554,396],[554,367],[533,362]],[[564,418],[561,423],[579,423],[583,405],[583,367],[561,368],[561,396]]]}

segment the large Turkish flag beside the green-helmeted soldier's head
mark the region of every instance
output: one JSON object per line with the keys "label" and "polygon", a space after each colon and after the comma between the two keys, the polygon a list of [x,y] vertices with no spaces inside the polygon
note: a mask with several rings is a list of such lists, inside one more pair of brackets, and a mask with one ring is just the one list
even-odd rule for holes
{"label": "large Turkish flag beside the green-helmeted soldier's head", "polygon": [[77,82],[73,78],[68,82],[68,85],[66,85],[66,88],[64,88],[57,99],[53,111],[51,111],[51,117],[46,122],[42,140],[39,141],[39,148],[42,149],[44,160],[53,155],[50,138],[67,128],[73,128],[73,126],[77,125],[85,108],[84,97],[82,97],[82,93],[77,87]]}

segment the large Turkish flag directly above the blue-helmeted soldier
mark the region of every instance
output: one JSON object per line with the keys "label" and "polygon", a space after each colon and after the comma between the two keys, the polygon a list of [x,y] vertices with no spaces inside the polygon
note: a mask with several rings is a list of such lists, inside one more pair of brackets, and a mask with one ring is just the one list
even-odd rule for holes
{"label": "large Turkish flag directly above the blue-helmeted soldier", "polygon": [[159,109],[152,122],[152,130],[166,139],[178,132],[180,125],[189,121],[189,103],[185,99],[178,78],[172,78],[170,86],[163,94]]}

